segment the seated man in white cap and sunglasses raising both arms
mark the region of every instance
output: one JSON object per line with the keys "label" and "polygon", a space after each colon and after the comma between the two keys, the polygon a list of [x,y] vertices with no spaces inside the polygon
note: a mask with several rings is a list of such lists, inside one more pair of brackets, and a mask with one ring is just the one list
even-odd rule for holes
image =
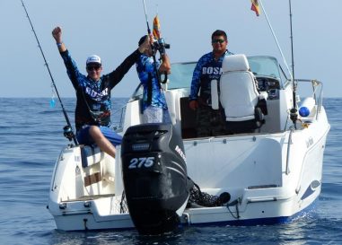
{"label": "seated man in white cap and sunglasses raising both arms", "polygon": [[80,144],[98,144],[101,150],[115,157],[115,145],[121,144],[121,136],[110,129],[110,91],[127,74],[140,55],[149,48],[146,40],[129,55],[116,70],[101,75],[101,58],[91,56],[86,61],[87,75],[81,74],[75,61],[62,41],[62,29],[52,31],[57,47],[66,65],[66,72],[76,91],[75,126]]}

